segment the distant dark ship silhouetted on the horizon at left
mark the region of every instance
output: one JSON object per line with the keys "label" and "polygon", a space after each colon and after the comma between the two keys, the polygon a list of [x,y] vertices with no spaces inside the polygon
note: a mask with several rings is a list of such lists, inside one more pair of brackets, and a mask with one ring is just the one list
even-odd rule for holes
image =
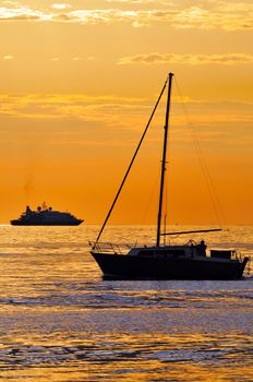
{"label": "distant dark ship silhouetted on the horizon at left", "polygon": [[43,203],[36,211],[27,205],[26,211],[10,223],[12,226],[79,226],[83,222],[69,212],[55,211]]}

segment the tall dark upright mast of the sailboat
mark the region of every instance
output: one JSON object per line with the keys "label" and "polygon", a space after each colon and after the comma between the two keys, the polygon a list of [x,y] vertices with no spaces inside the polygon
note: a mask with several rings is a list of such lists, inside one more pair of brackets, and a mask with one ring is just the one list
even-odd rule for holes
{"label": "tall dark upright mast of the sailboat", "polygon": [[172,76],[173,76],[173,73],[169,73],[168,98],[167,98],[166,119],[165,119],[164,150],[162,150],[161,172],[160,172],[160,194],[159,194],[159,207],[158,207],[158,218],[157,218],[157,237],[156,237],[157,247],[160,246],[160,226],[161,226],[161,211],[162,211],[165,172],[166,172],[166,155],[167,155],[167,141],[168,141],[168,129],[169,129],[169,111],[170,111]]}

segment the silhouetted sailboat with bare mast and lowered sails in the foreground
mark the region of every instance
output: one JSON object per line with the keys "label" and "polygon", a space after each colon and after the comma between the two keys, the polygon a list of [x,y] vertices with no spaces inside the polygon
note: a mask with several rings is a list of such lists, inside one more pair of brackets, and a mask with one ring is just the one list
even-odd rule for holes
{"label": "silhouetted sailboat with bare mast and lowered sails in the foreground", "polygon": [[[100,267],[104,278],[118,279],[237,279],[241,278],[249,261],[248,256],[242,259],[234,250],[212,249],[208,251],[205,241],[196,243],[189,240],[186,244],[161,243],[161,237],[167,235],[191,235],[195,232],[208,232],[221,229],[201,229],[180,232],[161,232],[161,214],[165,188],[165,172],[167,158],[167,141],[169,130],[170,98],[173,73],[169,73],[165,85],[144,130],[141,141],[135,150],[130,166],[124,175],[119,191],[106,216],[96,241],[92,244],[91,254]],[[164,132],[162,159],[160,171],[160,189],[157,217],[156,243],[154,246],[132,247],[126,253],[121,247],[99,241],[104,228],[111,215],[119,194],[124,186],[128,175],[135,160],[137,152],[145,138],[152,118],[156,111],[164,91],[168,87],[166,123]]]}

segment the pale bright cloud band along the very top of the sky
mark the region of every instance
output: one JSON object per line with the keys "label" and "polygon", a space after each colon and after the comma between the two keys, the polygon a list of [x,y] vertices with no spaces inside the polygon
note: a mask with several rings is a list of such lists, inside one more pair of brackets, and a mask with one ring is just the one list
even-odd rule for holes
{"label": "pale bright cloud band along the very top of the sky", "polygon": [[[107,1],[108,2],[108,1]],[[109,1],[108,3],[110,3]],[[112,2],[111,2],[112,3]],[[80,24],[113,24],[126,23],[133,27],[153,27],[166,25],[176,29],[252,29],[252,2],[206,1],[196,5],[195,2],[167,1],[115,1],[118,9],[74,9],[68,4],[55,3],[51,11],[34,10],[11,4],[0,8],[1,21],[37,21]],[[157,8],[153,8],[157,7]],[[120,9],[120,4],[123,8]],[[135,7],[134,7],[135,4]],[[158,7],[159,5],[159,7]],[[137,7],[137,8],[136,8]],[[147,7],[149,9],[147,9]]]}

